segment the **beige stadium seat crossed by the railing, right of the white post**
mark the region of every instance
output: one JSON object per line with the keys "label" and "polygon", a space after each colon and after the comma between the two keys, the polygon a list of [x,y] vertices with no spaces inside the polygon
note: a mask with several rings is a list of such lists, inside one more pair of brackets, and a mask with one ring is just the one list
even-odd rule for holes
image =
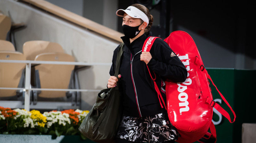
{"label": "beige stadium seat crossed by the railing, right of the white post", "polygon": [[[36,56],[35,61],[65,61],[74,62],[74,57],[66,53],[42,53]],[[71,88],[75,65],[40,64],[35,66],[36,88]],[[41,91],[37,92],[39,97],[58,98],[65,97],[66,91]],[[35,97],[35,95],[33,95]],[[70,95],[71,96],[71,95]],[[72,95],[72,98],[74,95]],[[34,98],[35,99],[35,98]]]}

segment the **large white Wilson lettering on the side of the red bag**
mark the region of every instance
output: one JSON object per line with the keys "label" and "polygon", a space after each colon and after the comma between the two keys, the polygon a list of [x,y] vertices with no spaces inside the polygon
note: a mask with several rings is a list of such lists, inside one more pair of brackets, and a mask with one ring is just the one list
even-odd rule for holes
{"label": "large white Wilson lettering on the side of the red bag", "polygon": [[[178,56],[180,60],[186,60],[185,62],[182,62],[186,67],[187,71],[190,71],[189,68],[189,59],[188,59],[188,54],[185,56]],[[188,73],[189,77],[189,73]],[[188,85],[191,85],[192,80],[190,78],[187,78],[184,82],[182,83],[177,83],[178,84],[178,91],[180,92],[178,99],[180,100],[179,107],[180,107],[180,115],[182,112],[187,112],[189,110],[188,107],[188,94],[185,93],[185,90],[188,88]]]}

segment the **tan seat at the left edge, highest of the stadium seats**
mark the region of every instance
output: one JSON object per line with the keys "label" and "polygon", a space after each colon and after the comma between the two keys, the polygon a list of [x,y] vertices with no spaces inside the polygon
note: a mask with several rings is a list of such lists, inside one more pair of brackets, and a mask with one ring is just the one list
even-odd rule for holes
{"label": "tan seat at the left edge, highest of the stadium seats", "polygon": [[0,13],[0,40],[6,40],[7,33],[10,31],[12,26],[12,20]]}

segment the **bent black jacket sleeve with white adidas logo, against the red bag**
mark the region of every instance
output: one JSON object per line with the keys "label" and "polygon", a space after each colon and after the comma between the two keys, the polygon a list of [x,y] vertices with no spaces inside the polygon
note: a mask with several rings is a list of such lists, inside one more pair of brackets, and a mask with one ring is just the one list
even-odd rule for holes
{"label": "bent black jacket sleeve with white adidas logo, against the red bag", "polygon": [[152,56],[148,67],[164,79],[174,82],[184,82],[187,70],[179,57],[172,51],[168,44],[160,38],[154,42],[150,54]]}

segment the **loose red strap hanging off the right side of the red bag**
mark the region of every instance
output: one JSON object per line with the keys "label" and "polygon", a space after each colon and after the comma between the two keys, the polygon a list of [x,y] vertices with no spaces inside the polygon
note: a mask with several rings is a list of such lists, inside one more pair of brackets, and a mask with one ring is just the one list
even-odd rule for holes
{"label": "loose red strap hanging off the right side of the red bag", "polygon": [[[233,115],[234,115],[234,121],[233,121],[233,122],[235,122],[235,120],[236,120],[236,114],[235,114],[234,110],[231,108],[231,106],[229,105],[228,101],[225,99],[225,97],[220,93],[220,91],[218,90],[218,88],[217,88],[217,87],[215,86],[215,84],[213,83],[212,78],[210,77],[210,75],[208,74],[208,72],[204,69],[204,65],[203,65],[203,63],[201,62],[201,60],[199,59],[199,57],[196,56],[196,57],[194,57],[194,58],[191,58],[191,60],[192,60],[193,62],[195,62],[195,63],[198,65],[198,67],[200,68],[200,70],[206,74],[207,78],[211,80],[213,86],[214,86],[214,87],[216,88],[216,90],[219,92],[219,94],[220,94],[221,98],[223,99],[223,101],[228,105],[229,109],[232,111],[232,113],[233,113]],[[218,111],[220,112],[220,114],[222,114],[224,117],[226,117],[230,123],[233,123],[233,122],[231,121],[231,118],[230,118],[228,112],[227,112],[226,110],[224,110],[219,104],[217,104],[216,102],[212,102],[212,101],[213,101],[213,100],[212,100],[210,97],[207,97],[206,102],[209,103],[210,106],[212,106],[212,107],[214,107],[216,110],[218,110]]]}

